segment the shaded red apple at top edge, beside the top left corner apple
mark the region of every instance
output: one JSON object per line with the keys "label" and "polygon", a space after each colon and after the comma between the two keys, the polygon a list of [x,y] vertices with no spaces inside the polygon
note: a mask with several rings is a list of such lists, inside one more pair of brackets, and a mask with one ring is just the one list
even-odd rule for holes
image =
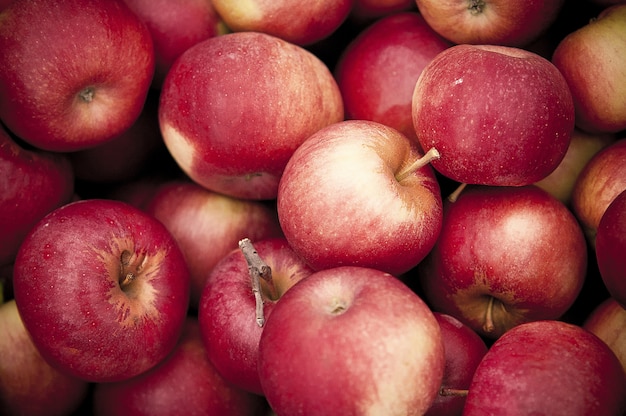
{"label": "shaded red apple at top edge, beside the top left corner apple", "polygon": [[124,0],[143,21],[154,41],[155,74],[152,86],[160,89],[172,64],[198,42],[224,32],[213,0]]}

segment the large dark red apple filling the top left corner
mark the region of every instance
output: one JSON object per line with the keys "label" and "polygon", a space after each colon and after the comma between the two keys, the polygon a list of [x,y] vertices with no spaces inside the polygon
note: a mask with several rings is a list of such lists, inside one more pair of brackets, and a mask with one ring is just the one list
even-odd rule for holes
{"label": "large dark red apple filling the top left corner", "polygon": [[15,135],[66,152],[104,143],[134,123],[154,50],[121,0],[15,1],[1,20],[0,119]]}

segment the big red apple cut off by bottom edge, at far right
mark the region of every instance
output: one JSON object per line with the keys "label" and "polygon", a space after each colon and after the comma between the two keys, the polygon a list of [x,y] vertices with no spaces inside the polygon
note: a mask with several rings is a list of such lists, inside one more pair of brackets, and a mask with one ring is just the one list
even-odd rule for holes
{"label": "big red apple cut off by bottom edge, at far right", "polygon": [[489,349],[464,415],[621,415],[626,377],[611,349],[561,321],[519,325]]}

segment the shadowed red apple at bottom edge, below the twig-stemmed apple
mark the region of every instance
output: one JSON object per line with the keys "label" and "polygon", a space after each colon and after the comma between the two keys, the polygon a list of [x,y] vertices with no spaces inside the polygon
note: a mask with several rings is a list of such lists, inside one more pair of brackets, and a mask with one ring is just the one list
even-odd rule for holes
{"label": "shadowed red apple at bottom edge, below the twig-stemmed apple", "polygon": [[227,383],[206,356],[195,317],[185,321],[172,353],[153,369],[117,383],[98,383],[96,416],[258,414],[262,399]]}

